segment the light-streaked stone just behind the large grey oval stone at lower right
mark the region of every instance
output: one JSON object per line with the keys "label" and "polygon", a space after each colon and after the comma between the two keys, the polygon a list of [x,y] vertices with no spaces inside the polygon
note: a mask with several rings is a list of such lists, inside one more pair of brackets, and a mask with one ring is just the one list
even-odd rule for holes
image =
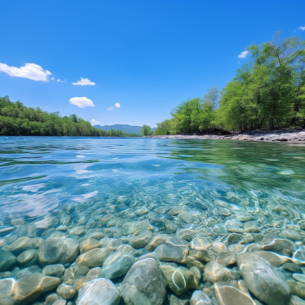
{"label": "light-streaked stone just behind the large grey oval stone at lower right", "polygon": [[280,254],[290,256],[296,250],[295,243],[285,238],[276,238],[272,235],[267,235],[261,241],[263,250],[270,250]]}

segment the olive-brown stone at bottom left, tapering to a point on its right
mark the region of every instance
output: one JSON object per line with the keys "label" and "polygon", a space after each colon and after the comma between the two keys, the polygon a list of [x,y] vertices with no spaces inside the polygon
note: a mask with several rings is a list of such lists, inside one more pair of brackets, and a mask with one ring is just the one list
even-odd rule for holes
{"label": "olive-brown stone at bottom left, tapering to a point on its right", "polygon": [[16,304],[28,304],[36,300],[41,293],[56,288],[60,283],[60,279],[43,276],[41,273],[24,276],[15,282],[14,301]]}

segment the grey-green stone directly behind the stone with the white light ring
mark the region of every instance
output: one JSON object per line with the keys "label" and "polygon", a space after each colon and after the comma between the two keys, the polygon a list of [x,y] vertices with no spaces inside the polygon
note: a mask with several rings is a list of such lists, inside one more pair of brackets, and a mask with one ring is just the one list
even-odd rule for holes
{"label": "grey-green stone directly behind the stone with the white light ring", "polygon": [[185,264],[189,254],[189,243],[175,236],[153,251],[153,256],[160,261]]}

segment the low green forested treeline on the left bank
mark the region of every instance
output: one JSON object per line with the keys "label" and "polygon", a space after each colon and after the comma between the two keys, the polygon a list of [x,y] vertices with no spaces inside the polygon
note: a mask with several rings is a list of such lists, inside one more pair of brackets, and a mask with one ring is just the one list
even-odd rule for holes
{"label": "low green forested treeline on the left bank", "polygon": [[135,136],[97,129],[76,114],[61,117],[59,112],[25,107],[20,101],[11,102],[8,96],[0,97],[0,135]]}

